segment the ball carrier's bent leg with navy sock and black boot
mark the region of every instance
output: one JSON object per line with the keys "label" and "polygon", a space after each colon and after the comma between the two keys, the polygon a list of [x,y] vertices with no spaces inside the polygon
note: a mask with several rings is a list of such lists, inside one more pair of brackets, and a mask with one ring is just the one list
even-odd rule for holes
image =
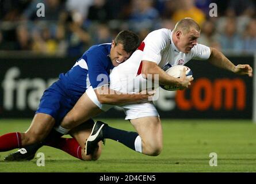
{"label": "ball carrier's bent leg with navy sock and black boot", "polygon": [[[98,124],[95,127],[101,127],[99,129],[100,133],[98,136],[94,136],[94,139],[87,140],[86,142],[86,150],[87,152],[91,152],[89,150],[91,144],[97,142],[98,137],[100,139],[112,139],[118,141],[126,145],[127,147],[135,150],[137,152],[142,152],[143,154],[150,156],[157,156],[161,153],[163,143],[162,143],[162,125],[158,116],[150,116],[150,117],[141,117],[130,120],[133,127],[137,132],[128,132],[121,129],[116,129],[110,127],[108,124],[104,124],[104,122],[97,121],[95,124]],[[102,126],[103,125],[103,126]],[[94,130],[95,132],[95,130]],[[90,137],[93,137],[90,136]],[[96,137],[96,138],[95,138]],[[88,146],[89,144],[89,146]]]}

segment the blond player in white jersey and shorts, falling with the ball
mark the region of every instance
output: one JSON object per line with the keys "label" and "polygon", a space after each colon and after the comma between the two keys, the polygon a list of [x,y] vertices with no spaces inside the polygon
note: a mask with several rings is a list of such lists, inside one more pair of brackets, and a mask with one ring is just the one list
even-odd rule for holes
{"label": "blond player in white jersey and shorts, falling with the ball", "polygon": [[[240,75],[253,75],[249,64],[235,66],[226,56],[215,48],[197,44],[200,37],[200,26],[192,18],[184,18],[177,22],[174,30],[159,29],[148,34],[138,51],[110,74],[110,88],[127,92],[127,76],[133,75],[140,81],[147,76],[159,76],[160,85],[177,85],[180,89],[189,87],[193,78],[186,78],[185,71],[181,78],[174,78],[162,70],[166,64],[175,66],[185,64],[191,59],[208,60],[209,63],[224,70]],[[141,76],[140,76],[141,75]],[[136,80],[136,79],[135,79]],[[128,89],[134,93],[133,88]],[[89,88],[79,99],[74,108],[64,117],[61,127],[74,128],[88,118],[110,108],[111,102],[106,101],[104,94],[98,89]],[[115,129],[101,121],[95,122],[91,136],[86,141],[86,154],[97,146],[102,139],[113,139],[127,147],[146,155],[156,156],[162,151],[162,127],[158,112],[152,102],[143,104],[123,105],[127,120],[131,121],[136,132]]]}

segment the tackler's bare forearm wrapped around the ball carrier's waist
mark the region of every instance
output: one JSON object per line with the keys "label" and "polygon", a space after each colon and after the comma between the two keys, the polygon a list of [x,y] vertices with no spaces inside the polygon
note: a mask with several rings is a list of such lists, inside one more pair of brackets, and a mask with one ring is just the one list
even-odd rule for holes
{"label": "tackler's bare forearm wrapped around the ball carrier's waist", "polygon": [[110,89],[108,86],[101,86],[94,89],[98,101],[101,104],[128,104],[132,102],[148,101],[148,98],[155,94],[155,91],[142,91],[135,94],[124,94]]}

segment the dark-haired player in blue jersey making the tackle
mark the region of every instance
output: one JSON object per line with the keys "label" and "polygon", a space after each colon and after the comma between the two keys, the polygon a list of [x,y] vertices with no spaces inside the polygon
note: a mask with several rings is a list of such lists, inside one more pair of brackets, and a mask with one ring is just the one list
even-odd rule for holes
{"label": "dark-haired player in blue jersey making the tackle", "polygon": [[[139,37],[133,32],[124,30],[117,35],[112,43],[94,45],[83,53],[82,57],[77,60],[71,70],[60,74],[59,80],[44,91],[39,108],[28,130],[25,133],[13,132],[0,136],[1,152],[25,147],[25,149],[22,148],[15,154],[7,156],[6,160],[32,159],[35,154],[30,158],[26,158],[25,156],[22,158],[22,155],[26,155],[24,153],[30,152],[30,150],[38,150],[43,144],[62,149],[62,145],[54,143],[54,140],[59,139],[60,136],[53,128],[58,127],[57,125],[60,124],[63,117],[72,109],[83,93],[85,93],[87,87],[92,86],[95,88],[108,83],[110,70],[127,60],[138,46]],[[107,79],[101,78],[101,76],[106,76]],[[150,95],[112,94],[105,95],[105,98],[108,99],[109,102],[111,101],[112,104],[141,101],[147,99]],[[89,120],[89,122],[85,122],[85,126],[83,126],[82,131],[85,131],[84,128],[86,127],[88,136],[92,128],[90,125],[93,125],[93,123],[93,120]],[[62,129],[59,128],[58,131],[62,132]],[[79,127],[77,127],[75,131],[79,132]],[[72,136],[80,142],[79,134],[74,133]],[[66,144],[72,147],[75,144],[74,139],[62,139],[62,150],[68,152],[69,149],[64,147]],[[83,137],[81,142],[84,143],[84,141],[85,137]],[[79,144],[77,143],[77,145]],[[84,144],[81,146],[84,147]],[[81,152],[83,149],[81,147],[79,148],[79,146],[77,146],[77,148],[77,152],[68,152],[68,154],[83,160],[92,159],[91,156],[87,156],[87,158],[82,157]],[[101,150],[99,148],[95,152],[94,159],[97,159],[100,153]]]}

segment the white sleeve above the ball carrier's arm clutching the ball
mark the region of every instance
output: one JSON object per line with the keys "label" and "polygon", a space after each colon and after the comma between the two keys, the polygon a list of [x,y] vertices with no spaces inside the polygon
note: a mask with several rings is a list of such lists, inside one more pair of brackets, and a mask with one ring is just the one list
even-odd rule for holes
{"label": "white sleeve above the ball carrier's arm clutching the ball", "polygon": [[161,51],[170,43],[167,29],[154,30],[144,39],[145,47],[142,60],[159,64],[162,56]]}

